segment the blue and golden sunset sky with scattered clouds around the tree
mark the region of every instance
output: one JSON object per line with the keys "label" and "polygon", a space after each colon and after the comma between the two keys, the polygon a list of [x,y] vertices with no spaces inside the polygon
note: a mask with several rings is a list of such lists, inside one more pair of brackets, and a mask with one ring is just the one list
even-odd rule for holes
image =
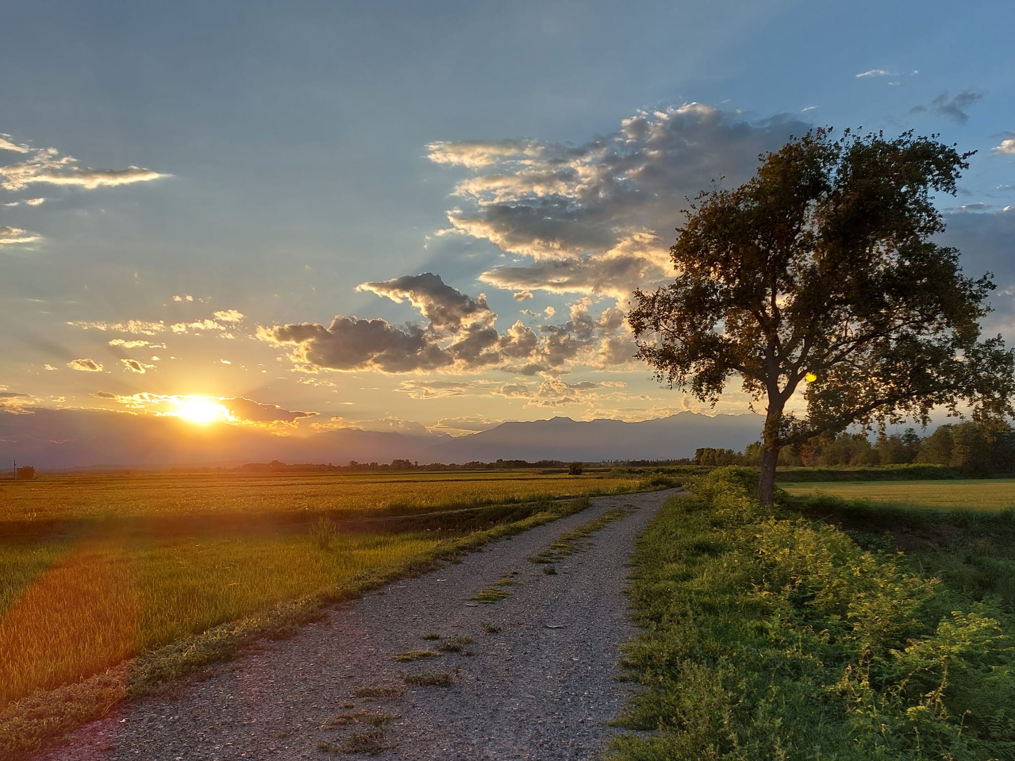
{"label": "blue and golden sunset sky with scattered clouds around the tree", "polygon": [[817,126],[976,151],[944,239],[1015,341],[1008,3],[0,5],[8,412],[746,411],[660,387],[623,317],[687,197]]}

